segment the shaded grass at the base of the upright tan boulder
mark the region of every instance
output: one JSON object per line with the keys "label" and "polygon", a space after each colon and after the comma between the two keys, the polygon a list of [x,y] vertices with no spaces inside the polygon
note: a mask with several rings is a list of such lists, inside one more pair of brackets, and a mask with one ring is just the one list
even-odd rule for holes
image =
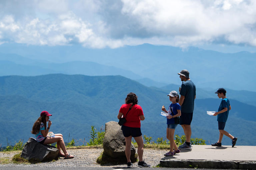
{"label": "shaded grass at the base of the upright tan boulder", "polygon": [[[138,154],[135,153],[134,157],[132,157],[131,155],[131,162],[134,163],[134,162],[137,162],[138,158]],[[110,156],[104,154],[104,151],[100,153],[100,156],[97,158],[97,163],[101,164],[101,165],[105,165],[105,164],[113,164],[113,165],[120,165],[120,164],[124,164],[124,163],[127,163],[127,159],[125,156],[123,157],[118,157],[118,158],[111,158]]]}

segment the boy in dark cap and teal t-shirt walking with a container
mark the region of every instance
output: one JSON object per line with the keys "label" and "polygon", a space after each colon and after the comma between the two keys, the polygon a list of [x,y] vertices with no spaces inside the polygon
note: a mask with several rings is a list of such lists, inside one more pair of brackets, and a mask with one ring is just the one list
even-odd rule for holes
{"label": "boy in dark cap and teal t-shirt walking with a container", "polygon": [[215,114],[213,115],[213,116],[218,115],[217,121],[218,121],[220,136],[219,136],[219,140],[216,143],[212,143],[212,146],[221,146],[221,140],[222,140],[223,134],[225,134],[232,140],[232,147],[234,147],[236,144],[237,137],[232,136],[231,134],[229,134],[227,131],[224,130],[226,121],[228,119],[228,113],[231,110],[229,100],[226,97],[226,90],[224,88],[219,88],[215,93],[218,94],[219,98],[222,98],[218,112],[215,112]]}

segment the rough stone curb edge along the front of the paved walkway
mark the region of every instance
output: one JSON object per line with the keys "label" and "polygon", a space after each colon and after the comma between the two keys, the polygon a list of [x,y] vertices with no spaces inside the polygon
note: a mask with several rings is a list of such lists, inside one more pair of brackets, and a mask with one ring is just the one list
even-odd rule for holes
{"label": "rough stone curb edge along the front of the paved walkway", "polygon": [[256,169],[256,161],[165,159],[160,166],[170,168],[205,168],[205,169]]}

